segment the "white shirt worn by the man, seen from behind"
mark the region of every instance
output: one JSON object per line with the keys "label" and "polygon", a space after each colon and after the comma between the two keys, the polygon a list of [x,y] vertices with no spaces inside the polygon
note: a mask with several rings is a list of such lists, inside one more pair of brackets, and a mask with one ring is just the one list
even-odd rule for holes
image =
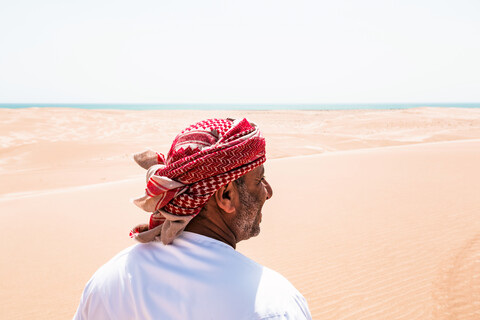
{"label": "white shirt worn by the man, seen from behind", "polygon": [[283,276],[229,245],[183,232],[127,248],[87,283],[74,319],[311,319]]}

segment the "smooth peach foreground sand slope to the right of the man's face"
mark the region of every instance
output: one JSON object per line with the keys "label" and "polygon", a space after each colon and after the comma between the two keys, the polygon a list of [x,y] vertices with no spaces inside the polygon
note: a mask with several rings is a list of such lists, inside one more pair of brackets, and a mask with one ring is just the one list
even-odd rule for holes
{"label": "smooth peach foreground sand slope to the right of the man's face", "polygon": [[271,161],[261,237],[239,250],[316,319],[477,319],[478,163],[480,140]]}

